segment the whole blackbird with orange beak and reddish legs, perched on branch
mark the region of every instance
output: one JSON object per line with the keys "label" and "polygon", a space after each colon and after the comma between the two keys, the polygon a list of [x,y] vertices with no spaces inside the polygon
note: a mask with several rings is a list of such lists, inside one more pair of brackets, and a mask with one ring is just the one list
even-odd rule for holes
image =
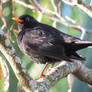
{"label": "whole blackbird with orange beak and reddish legs, perched on branch", "polygon": [[80,40],[47,24],[39,23],[27,14],[13,20],[18,23],[19,48],[34,62],[46,64],[45,68],[48,64],[52,64],[52,68],[55,62],[62,60],[85,60],[76,51],[92,46],[92,42]]}

